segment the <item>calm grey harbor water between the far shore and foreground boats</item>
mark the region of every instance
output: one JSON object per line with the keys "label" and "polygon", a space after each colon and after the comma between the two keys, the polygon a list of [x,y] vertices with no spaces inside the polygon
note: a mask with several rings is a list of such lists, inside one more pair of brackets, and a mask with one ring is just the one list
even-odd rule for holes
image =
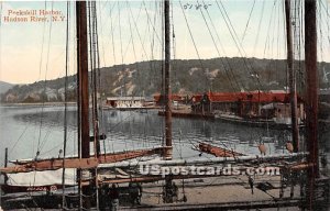
{"label": "calm grey harbor water between the far shore and foreground boats", "polygon": [[[102,152],[136,149],[163,144],[164,119],[157,111],[105,110],[101,115],[101,132],[107,134]],[[77,154],[77,112],[68,108],[67,154]],[[64,141],[64,107],[0,107],[0,155],[9,148],[9,159],[57,157]],[[92,134],[92,132],[91,132]],[[243,154],[258,154],[257,145],[265,137],[275,142],[266,143],[267,154],[286,153],[284,143],[289,131],[266,130],[223,123],[221,121],[173,119],[174,157],[197,157],[193,149],[198,142],[235,149]],[[321,149],[329,152],[329,130],[321,131]],[[207,156],[207,155],[202,155]],[[3,165],[3,158],[0,157]]]}

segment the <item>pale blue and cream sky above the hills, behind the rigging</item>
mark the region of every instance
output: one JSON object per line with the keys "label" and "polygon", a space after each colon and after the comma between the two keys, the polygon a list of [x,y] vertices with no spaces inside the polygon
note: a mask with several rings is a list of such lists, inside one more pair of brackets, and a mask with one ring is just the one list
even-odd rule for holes
{"label": "pale blue and cream sky above the hills, behind the rigging", "polygon": [[[286,57],[282,0],[172,1],[172,58]],[[69,74],[75,74],[75,3],[1,1],[0,80],[31,84],[65,75],[66,25],[69,21]],[[161,59],[161,1],[97,1],[100,66]],[[318,1],[318,59],[330,62],[329,2]],[[330,7],[329,7],[330,8]],[[15,15],[13,11],[36,15]],[[57,14],[43,15],[41,10]],[[33,16],[48,21],[34,22]],[[59,21],[52,21],[54,16]],[[8,21],[26,18],[26,22]],[[63,18],[61,20],[59,18]]]}

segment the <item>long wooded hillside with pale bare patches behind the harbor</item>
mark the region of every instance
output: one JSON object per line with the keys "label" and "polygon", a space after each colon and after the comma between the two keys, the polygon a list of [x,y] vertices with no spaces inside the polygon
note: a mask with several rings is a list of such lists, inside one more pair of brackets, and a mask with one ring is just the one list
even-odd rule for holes
{"label": "long wooded hillside with pale bare patches behind the harbor", "polygon": [[[319,69],[322,69],[319,71],[320,87],[326,88],[329,82],[323,77],[323,69],[330,69],[330,64],[321,63]],[[162,62],[160,60],[103,67],[100,69],[100,75],[103,97],[152,96],[162,91]],[[304,70],[297,75],[298,80],[304,81]],[[68,98],[75,100],[76,76],[70,76],[68,81]],[[174,93],[196,93],[209,89],[212,91],[283,90],[286,81],[285,60],[223,57],[172,62],[170,84]],[[305,85],[299,82],[297,87],[302,89]],[[63,99],[64,78],[14,86],[1,96],[2,102],[63,101]]]}

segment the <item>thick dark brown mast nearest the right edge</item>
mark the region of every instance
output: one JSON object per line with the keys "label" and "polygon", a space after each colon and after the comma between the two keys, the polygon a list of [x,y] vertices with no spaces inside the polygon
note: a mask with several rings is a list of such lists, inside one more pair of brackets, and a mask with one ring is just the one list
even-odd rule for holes
{"label": "thick dark brown mast nearest the right edge", "polygon": [[317,26],[316,1],[305,0],[305,66],[307,74],[307,145],[308,162],[312,166],[308,170],[309,209],[315,203],[315,179],[318,171],[318,71],[317,71]]}

